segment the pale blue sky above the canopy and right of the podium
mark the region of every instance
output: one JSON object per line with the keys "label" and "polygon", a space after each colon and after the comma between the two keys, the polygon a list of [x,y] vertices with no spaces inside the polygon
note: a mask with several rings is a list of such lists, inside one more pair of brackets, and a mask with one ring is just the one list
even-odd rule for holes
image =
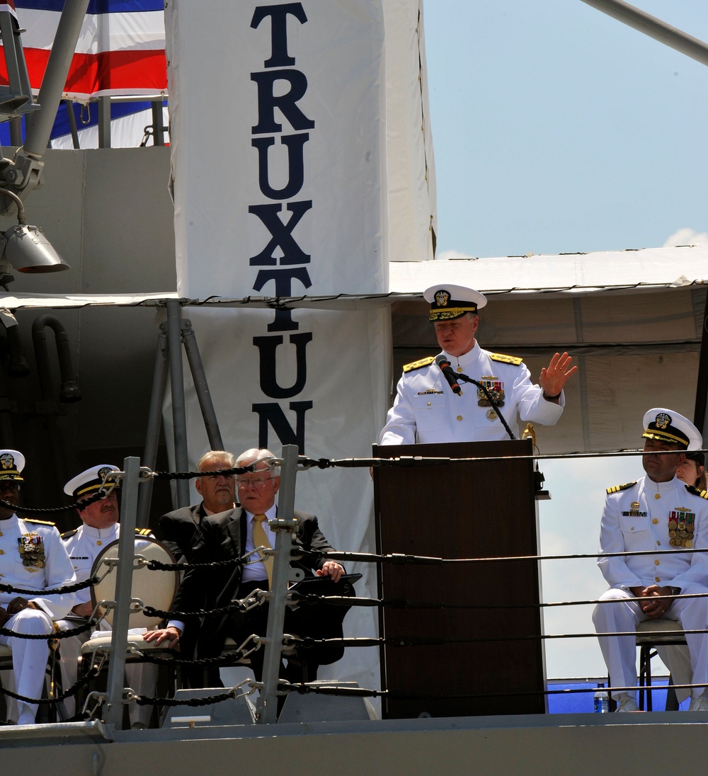
{"label": "pale blue sky above the canopy and right of the podium", "polygon": [[[705,0],[633,5],[708,41]],[[705,65],[581,0],[425,0],[425,39],[439,258],[708,241]],[[605,488],[643,474],[629,458],[542,469],[545,554],[595,552]],[[605,589],[594,560],[543,563],[545,601]],[[592,631],[591,611],[550,610],[546,632]],[[550,677],[605,672],[594,638],[546,652]]]}

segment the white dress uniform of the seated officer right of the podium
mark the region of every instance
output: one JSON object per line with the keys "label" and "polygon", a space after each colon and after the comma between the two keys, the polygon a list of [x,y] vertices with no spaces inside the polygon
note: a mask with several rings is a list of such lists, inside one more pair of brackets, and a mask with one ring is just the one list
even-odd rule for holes
{"label": "white dress uniform of the seated officer right of the podium", "polygon": [[[633,632],[637,623],[646,619],[639,605],[626,600],[633,598],[630,587],[657,584],[680,587],[682,594],[708,593],[708,554],[686,553],[681,547],[669,544],[669,516],[677,511],[695,515],[692,546],[696,549],[708,546],[708,501],[695,491],[691,493],[676,477],[670,482],[657,483],[645,476],[630,487],[608,494],[602,513],[601,553],[675,552],[598,560],[602,574],[612,585],[600,601],[616,603],[601,603],[595,607],[592,620],[597,632]],[[677,599],[668,608],[665,618],[678,620],[682,629],[706,629],[708,598]],[[708,684],[708,635],[687,633],[686,642],[691,658],[692,684]],[[613,687],[636,686],[634,636],[600,637],[599,643],[609,670],[610,684]],[[693,695],[702,693],[703,688],[693,691]],[[613,697],[620,694],[621,691],[613,693]]]}

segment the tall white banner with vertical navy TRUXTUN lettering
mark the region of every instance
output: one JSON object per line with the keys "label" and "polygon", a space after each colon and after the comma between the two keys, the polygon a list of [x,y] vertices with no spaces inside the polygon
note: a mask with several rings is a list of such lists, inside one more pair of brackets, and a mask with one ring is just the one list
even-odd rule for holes
{"label": "tall white banner with vertical navy TRUXTUN lettering", "polygon": [[[386,293],[390,253],[431,258],[420,12],[420,0],[168,3],[181,296]],[[396,98],[393,132],[387,95]],[[398,248],[394,232],[405,240]],[[370,456],[390,402],[387,307],[189,307],[182,317],[192,321],[227,449],[279,454],[293,443],[311,458]],[[191,387],[187,414],[196,462],[208,445]],[[296,507],[318,514],[337,549],[373,549],[372,502],[367,469],[298,475]],[[359,594],[375,594],[375,567],[348,570],[365,573]],[[353,608],[345,632],[370,636],[376,622],[375,611]],[[321,674],[371,686],[375,653],[347,650]]]}

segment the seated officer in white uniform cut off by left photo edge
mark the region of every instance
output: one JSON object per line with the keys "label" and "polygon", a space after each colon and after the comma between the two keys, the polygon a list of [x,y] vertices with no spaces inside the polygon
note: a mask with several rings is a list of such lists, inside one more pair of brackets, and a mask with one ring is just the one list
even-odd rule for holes
{"label": "seated officer in white uniform cut off by left photo edge", "polygon": [[[19,504],[25,458],[16,450],[0,450],[0,499]],[[68,553],[54,523],[18,518],[12,507],[0,505],[0,582],[36,591],[36,595],[0,590],[0,627],[16,633],[54,633],[54,623],[67,615],[74,594],[45,595],[76,581]],[[15,691],[40,698],[49,657],[47,639],[19,639],[0,634],[0,644],[12,650]],[[14,702],[8,696],[8,721],[32,725],[37,705]]]}

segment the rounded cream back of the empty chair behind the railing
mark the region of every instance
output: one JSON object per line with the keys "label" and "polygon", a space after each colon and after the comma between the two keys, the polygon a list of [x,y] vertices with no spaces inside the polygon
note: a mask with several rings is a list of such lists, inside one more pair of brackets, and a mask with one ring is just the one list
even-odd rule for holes
{"label": "rounded cream back of the empty chair behind the railing", "polygon": [[[147,536],[137,536],[135,539],[135,554],[146,560],[157,560],[160,563],[175,563],[175,556],[164,544]],[[117,567],[106,563],[107,560],[118,558],[118,540],[111,542],[96,556],[91,570],[92,577],[103,577],[91,587],[91,601],[95,605],[99,601],[115,601]],[[127,558],[127,563],[133,563],[133,558]],[[108,573],[106,573],[108,572]],[[105,576],[104,576],[105,575]],[[130,598],[139,598],[145,606],[168,610],[179,587],[179,571],[151,570],[147,566],[137,566],[133,569],[133,584]],[[127,603],[127,601],[125,602]],[[106,622],[113,627],[113,612],[110,608],[106,613]],[[161,622],[161,617],[147,617],[143,611],[130,613],[129,628],[154,628]]]}

